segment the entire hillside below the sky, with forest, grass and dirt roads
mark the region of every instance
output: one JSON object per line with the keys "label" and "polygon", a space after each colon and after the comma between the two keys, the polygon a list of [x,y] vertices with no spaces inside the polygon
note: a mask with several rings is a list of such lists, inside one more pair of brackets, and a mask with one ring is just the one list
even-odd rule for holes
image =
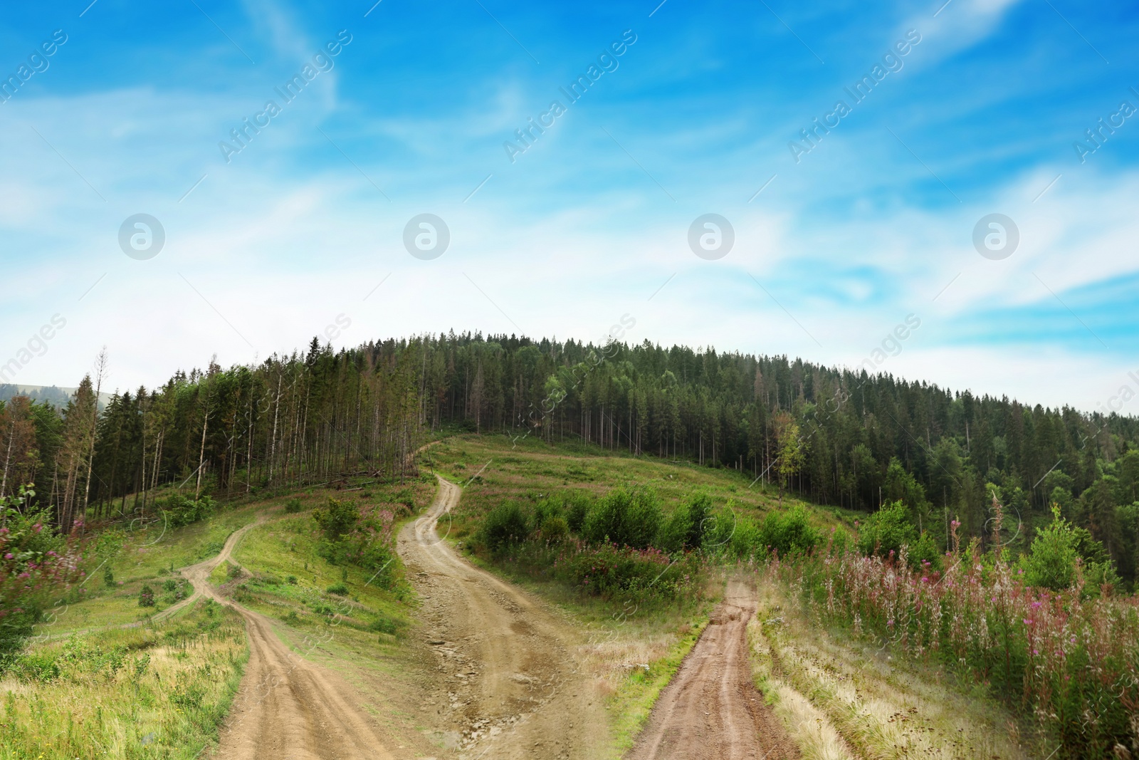
{"label": "entire hillside below the sky, with forest, grass and dirt roads", "polygon": [[[344,757],[510,757],[555,726],[551,759],[1062,759],[1134,738],[1129,418],[778,357],[477,335],[314,340],[105,408],[97,383],[63,410],[0,408],[0,670],[26,719],[57,683],[121,714],[124,663],[154,649],[148,698],[181,722],[147,739],[112,721],[107,741],[236,752],[297,716],[336,726]],[[523,637],[514,660],[486,626]],[[170,640],[198,641],[196,670]],[[251,702],[251,678],[290,696]],[[259,718],[229,721],[233,698]],[[50,714],[14,718],[21,746],[59,730]],[[964,734],[943,742],[952,717]],[[715,741],[685,745],[694,721]],[[60,757],[87,752],[67,742]]]}

